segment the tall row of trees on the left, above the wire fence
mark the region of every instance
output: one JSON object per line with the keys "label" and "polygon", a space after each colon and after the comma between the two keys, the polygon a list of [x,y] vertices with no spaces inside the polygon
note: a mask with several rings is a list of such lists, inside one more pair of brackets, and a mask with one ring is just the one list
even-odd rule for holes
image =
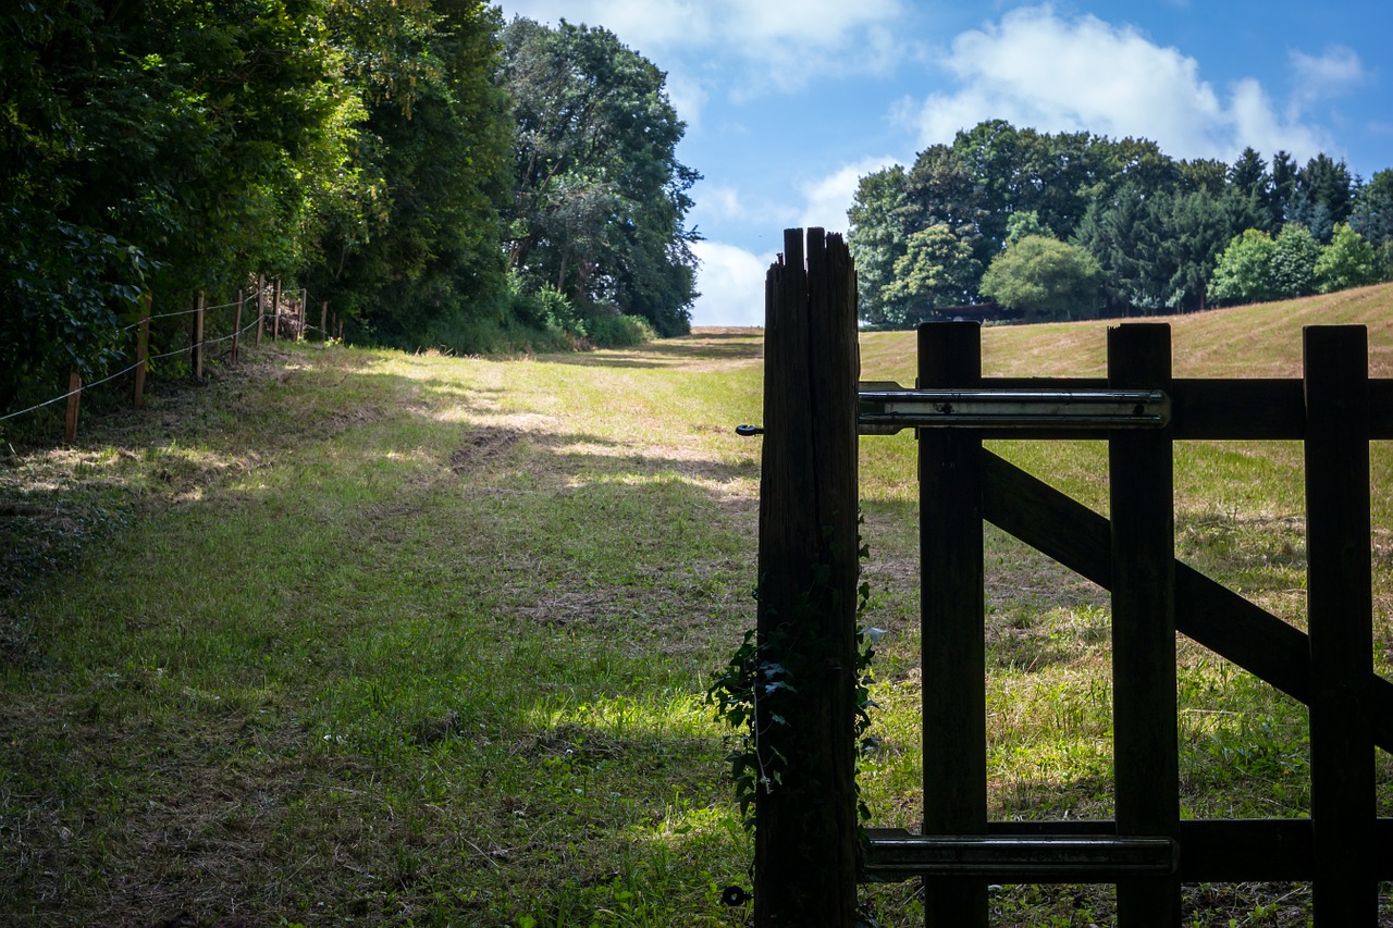
{"label": "tall row of trees on the left, above the wire fence", "polygon": [[699,176],[666,75],[606,29],[481,0],[18,3],[0,61],[0,408],[128,357],[142,294],[258,273],[398,347],[690,327]]}

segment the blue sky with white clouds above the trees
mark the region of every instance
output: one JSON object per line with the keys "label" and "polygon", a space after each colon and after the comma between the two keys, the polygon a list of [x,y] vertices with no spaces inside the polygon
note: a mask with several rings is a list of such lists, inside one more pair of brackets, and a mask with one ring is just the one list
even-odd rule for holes
{"label": "blue sky with white clouds above the trees", "polygon": [[1393,167],[1393,3],[1311,0],[507,0],[602,25],[667,71],[703,174],[692,323],[762,325],[783,230],[844,231],[857,177],[960,128],[1145,137],[1173,157],[1245,145]]}

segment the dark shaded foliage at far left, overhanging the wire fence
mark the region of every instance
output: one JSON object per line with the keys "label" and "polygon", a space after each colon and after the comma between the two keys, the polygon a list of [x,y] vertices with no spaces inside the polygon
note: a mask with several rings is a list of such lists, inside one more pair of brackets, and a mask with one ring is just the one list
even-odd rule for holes
{"label": "dark shaded foliage at far left, overhanging the wire fence", "polygon": [[0,355],[22,355],[0,399],[39,371],[107,372],[137,291],[159,312],[293,266],[298,177],[336,131],[322,13],[79,1],[0,21]]}

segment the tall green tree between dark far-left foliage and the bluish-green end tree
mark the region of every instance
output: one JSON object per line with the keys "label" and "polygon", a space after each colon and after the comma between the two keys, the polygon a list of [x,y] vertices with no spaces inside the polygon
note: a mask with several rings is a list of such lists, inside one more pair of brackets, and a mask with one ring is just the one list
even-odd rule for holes
{"label": "tall green tree between dark far-left foliage and the bluish-green end tree", "polygon": [[482,0],[359,0],[336,3],[329,26],[361,116],[304,273],[376,337],[421,344],[503,291],[501,21]]}

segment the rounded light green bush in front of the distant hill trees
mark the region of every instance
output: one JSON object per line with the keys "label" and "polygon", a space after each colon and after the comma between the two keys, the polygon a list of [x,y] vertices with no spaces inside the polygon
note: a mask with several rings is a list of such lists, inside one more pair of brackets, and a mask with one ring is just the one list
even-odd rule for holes
{"label": "rounded light green bush in front of the distant hill trees", "polygon": [[982,294],[1031,320],[1088,319],[1098,311],[1102,269],[1085,248],[1043,235],[1006,247],[982,276]]}

